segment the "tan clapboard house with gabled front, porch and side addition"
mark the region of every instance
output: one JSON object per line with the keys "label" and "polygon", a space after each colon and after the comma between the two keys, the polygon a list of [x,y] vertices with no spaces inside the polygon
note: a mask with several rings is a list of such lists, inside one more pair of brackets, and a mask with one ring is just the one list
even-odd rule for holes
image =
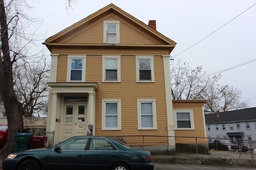
{"label": "tan clapboard house with gabled front, porch and side addition", "polygon": [[55,131],[54,143],[75,135],[174,136],[177,128],[188,134],[197,126],[205,136],[204,101],[194,112],[193,103],[172,106],[176,43],[156,31],[155,20],[146,25],[110,4],[44,44],[52,58],[47,130]]}

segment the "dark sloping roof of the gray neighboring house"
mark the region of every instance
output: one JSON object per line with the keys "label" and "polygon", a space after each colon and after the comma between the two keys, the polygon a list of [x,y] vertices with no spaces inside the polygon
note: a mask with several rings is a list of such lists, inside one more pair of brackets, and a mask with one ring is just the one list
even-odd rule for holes
{"label": "dark sloping roof of the gray neighboring house", "polygon": [[206,124],[256,121],[256,107],[205,114]]}

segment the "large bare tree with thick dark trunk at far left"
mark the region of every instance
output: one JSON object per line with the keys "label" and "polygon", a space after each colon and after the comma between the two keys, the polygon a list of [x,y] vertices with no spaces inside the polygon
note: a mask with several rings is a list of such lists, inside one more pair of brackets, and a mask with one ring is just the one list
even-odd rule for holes
{"label": "large bare tree with thick dark trunk at far left", "polygon": [[40,37],[35,32],[41,20],[29,18],[30,9],[25,0],[0,0],[0,96],[8,121],[7,142],[0,151],[4,156],[13,151],[14,135],[23,124],[24,108],[14,89],[13,68],[17,61],[34,56],[29,51]]}

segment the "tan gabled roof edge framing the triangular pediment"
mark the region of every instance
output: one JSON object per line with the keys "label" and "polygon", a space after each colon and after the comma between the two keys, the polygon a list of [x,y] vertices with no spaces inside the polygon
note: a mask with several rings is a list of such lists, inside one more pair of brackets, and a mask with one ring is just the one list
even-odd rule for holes
{"label": "tan gabled roof edge framing the triangular pediment", "polygon": [[[97,20],[102,19],[104,16],[108,16],[109,14],[115,14],[115,15],[120,16],[120,18],[123,18],[124,20],[129,21],[130,23],[135,25],[135,27],[137,27],[140,31],[144,31],[148,35],[151,35],[152,37],[154,37],[155,39],[159,39],[159,41],[164,42],[162,44],[158,44],[158,45],[155,45],[155,46],[168,47],[168,48],[170,48],[170,52],[171,52],[172,49],[176,45],[176,43],[174,41],[172,41],[171,39],[169,39],[168,37],[162,35],[158,31],[156,31],[155,29],[152,29],[150,26],[148,26],[145,23],[143,23],[142,21],[134,18],[133,16],[131,16],[127,12],[124,12],[122,9],[118,8],[114,4],[109,4],[108,6],[98,10],[94,14],[91,14],[90,16],[74,23],[73,25],[71,25],[70,27],[67,27],[66,29],[64,29],[62,31],[60,31],[59,33],[56,33],[55,35],[46,39],[44,44],[48,48],[51,45],[58,45],[58,46],[60,46],[60,45],[74,45],[74,44],[67,44],[67,43],[65,44],[63,39],[67,39],[67,37],[71,36],[71,35],[74,36],[77,32],[79,33],[79,31],[84,29],[84,27],[89,27],[90,25],[93,26],[93,24],[95,24],[95,22]],[[97,46],[96,44],[76,44],[76,45],[81,45],[81,46],[94,45],[94,46]],[[102,44],[98,44],[98,46],[100,46],[100,45],[103,45],[103,42],[102,42]],[[128,45],[116,44],[116,46],[128,46]],[[152,46],[154,46],[154,45],[152,45]]]}

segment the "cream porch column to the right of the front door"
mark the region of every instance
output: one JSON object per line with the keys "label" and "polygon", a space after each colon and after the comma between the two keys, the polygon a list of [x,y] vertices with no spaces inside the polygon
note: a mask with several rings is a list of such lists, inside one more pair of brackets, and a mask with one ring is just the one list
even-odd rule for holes
{"label": "cream porch column to the right of the front door", "polygon": [[88,105],[87,105],[87,125],[93,125],[93,134],[94,134],[94,93],[89,93]]}

